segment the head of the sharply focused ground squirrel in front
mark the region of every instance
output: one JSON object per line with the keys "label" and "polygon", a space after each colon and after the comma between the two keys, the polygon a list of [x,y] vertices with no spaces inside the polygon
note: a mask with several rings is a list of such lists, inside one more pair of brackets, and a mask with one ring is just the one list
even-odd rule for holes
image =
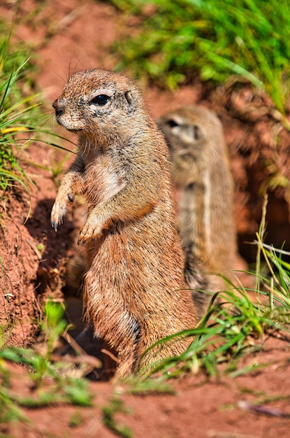
{"label": "head of the sharply focused ground squirrel in front", "polygon": [[144,106],[136,85],[122,74],[100,69],[75,73],[53,104],[59,125],[71,132],[107,137],[128,129]]}

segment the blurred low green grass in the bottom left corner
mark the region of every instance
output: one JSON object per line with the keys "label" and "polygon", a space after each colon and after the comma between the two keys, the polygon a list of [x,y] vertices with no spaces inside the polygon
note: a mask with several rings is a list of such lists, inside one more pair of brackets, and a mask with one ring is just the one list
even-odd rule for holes
{"label": "blurred low green grass in the bottom left corner", "polygon": [[[78,404],[90,406],[92,393],[88,382],[73,376],[67,362],[52,360],[55,344],[66,329],[64,308],[60,303],[48,301],[41,330],[45,337],[44,348],[14,348],[5,346],[5,336],[0,337],[0,423],[24,420],[21,407],[43,407],[49,404]],[[11,388],[12,372],[8,362],[25,366],[24,374],[31,381],[31,395],[18,395]],[[48,385],[48,380],[50,381]]]}

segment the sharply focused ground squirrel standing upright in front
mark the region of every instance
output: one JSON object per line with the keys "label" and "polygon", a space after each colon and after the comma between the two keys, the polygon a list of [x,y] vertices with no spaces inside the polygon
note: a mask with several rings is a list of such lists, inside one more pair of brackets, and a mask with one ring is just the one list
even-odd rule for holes
{"label": "sharply focused ground squirrel standing upright in front", "polygon": [[59,125],[78,133],[78,157],[61,181],[51,222],[63,222],[76,194],[87,200],[80,230],[88,270],[86,316],[117,352],[116,378],[184,351],[189,339],[155,341],[194,327],[184,282],[164,136],[140,91],[119,73],[92,69],[68,79],[52,104]]}

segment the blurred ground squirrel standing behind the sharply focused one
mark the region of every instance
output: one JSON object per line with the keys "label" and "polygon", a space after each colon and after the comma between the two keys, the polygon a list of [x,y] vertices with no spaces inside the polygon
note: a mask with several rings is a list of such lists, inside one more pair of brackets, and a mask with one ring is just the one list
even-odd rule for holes
{"label": "blurred ground squirrel standing behind the sharply focused one", "polygon": [[[171,153],[187,282],[193,289],[224,290],[221,277],[203,276],[230,276],[236,252],[234,185],[222,123],[200,105],[177,108],[157,122]],[[193,297],[202,316],[210,297],[194,290]]]}

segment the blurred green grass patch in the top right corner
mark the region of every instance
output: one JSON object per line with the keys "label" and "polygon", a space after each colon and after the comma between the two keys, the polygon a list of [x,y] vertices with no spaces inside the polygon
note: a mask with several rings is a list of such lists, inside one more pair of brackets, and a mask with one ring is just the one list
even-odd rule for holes
{"label": "blurred green grass patch in the top right corner", "polygon": [[[248,80],[269,94],[282,115],[290,90],[290,3],[287,0],[112,0],[137,15],[113,46],[117,69],[175,89],[198,74],[224,83]],[[286,123],[286,122],[285,122]]]}

